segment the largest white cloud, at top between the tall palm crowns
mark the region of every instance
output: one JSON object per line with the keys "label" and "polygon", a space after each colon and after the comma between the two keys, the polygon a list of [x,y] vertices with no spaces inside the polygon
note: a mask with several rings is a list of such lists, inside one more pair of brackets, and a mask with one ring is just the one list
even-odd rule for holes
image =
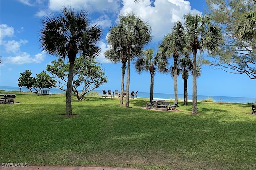
{"label": "largest white cloud, at top between the tall palm crowns", "polygon": [[153,41],[160,41],[169,33],[175,21],[183,20],[184,14],[198,12],[191,10],[190,3],[185,0],[156,0],[153,6],[151,2],[134,3],[131,0],[123,0],[123,8],[120,14],[134,12],[152,28]]}

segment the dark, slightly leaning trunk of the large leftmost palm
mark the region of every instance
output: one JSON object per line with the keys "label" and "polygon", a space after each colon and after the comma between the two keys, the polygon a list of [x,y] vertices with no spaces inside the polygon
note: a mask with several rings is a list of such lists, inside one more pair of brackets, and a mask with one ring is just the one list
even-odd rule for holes
{"label": "dark, slightly leaning trunk of the large leftmost palm", "polygon": [[72,95],[73,73],[74,73],[74,62],[69,60],[68,82],[67,82],[67,92],[66,92],[66,115],[72,115],[71,95]]}

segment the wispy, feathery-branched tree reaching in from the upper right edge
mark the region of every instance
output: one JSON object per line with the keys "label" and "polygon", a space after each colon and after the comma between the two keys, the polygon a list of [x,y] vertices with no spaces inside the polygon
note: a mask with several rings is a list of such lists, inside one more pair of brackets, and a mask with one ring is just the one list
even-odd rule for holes
{"label": "wispy, feathery-branched tree reaching in from the upper right edge", "polygon": [[256,1],[209,0],[208,11],[221,26],[223,41],[214,61],[205,60],[226,72],[256,79]]}

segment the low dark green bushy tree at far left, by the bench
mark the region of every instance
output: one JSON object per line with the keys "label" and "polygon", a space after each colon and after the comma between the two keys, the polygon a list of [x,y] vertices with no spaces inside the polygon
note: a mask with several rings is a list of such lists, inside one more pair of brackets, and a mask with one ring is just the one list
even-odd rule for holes
{"label": "low dark green bushy tree at far left, by the bench", "polygon": [[20,74],[18,86],[26,87],[35,94],[38,94],[38,90],[54,87],[54,84],[57,83],[53,77],[50,77],[45,71],[36,74],[36,78],[31,76],[32,72],[30,70],[26,70]]}

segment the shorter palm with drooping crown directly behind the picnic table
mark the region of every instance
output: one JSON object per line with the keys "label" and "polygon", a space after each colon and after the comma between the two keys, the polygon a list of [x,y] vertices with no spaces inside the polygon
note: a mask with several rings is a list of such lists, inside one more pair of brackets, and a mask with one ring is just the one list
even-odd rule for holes
{"label": "shorter palm with drooping crown directly behind the picnic table", "polygon": [[154,74],[156,70],[168,72],[165,60],[157,53],[154,55],[154,49],[149,48],[144,51],[144,55],[134,62],[136,71],[141,74],[142,71],[150,72],[150,103],[154,94]]}

